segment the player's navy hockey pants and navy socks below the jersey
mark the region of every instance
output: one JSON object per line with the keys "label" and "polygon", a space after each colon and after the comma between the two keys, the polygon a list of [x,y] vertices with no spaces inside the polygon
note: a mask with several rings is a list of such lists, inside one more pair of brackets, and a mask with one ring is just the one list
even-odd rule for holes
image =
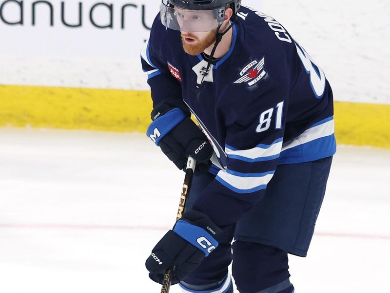
{"label": "player's navy hockey pants and navy socks below the jersey", "polygon": [[[329,157],[277,166],[264,198],[236,225],[224,229],[218,248],[182,284],[191,292],[214,289],[226,279],[233,260],[240,293],[291,293],[288,253],[307,255],[331,162]],[[214,178],[210,173],[194,176],[189,208]]]}

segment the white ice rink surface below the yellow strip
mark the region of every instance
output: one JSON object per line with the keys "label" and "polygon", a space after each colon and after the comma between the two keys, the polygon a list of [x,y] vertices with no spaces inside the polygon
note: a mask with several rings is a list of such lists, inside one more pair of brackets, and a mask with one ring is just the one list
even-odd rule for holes
{"label": "white ice rink surface below the yellow strip", "polygon": [[[0,292],[160,292],[183,177],[144,135],[0,129]],[[389,290],[389,180],[390,151],[339,146],[296,292]]]}

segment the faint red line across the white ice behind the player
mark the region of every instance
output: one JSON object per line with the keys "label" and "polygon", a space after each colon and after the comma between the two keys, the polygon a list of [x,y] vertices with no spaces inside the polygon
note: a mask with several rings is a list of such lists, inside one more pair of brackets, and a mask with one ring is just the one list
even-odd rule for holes
{"label": "faint red line across the white ice behind the player", "polygon": [[[0,224],[0,229],[70,229],[70,230],[169,230],[163,226],[127,226],[127,225],[78,225],[78,224]],[[358,238],[358,239],[382,239],[390,240],[390,235],[357,234],[341,232],[315,232],[317,236]]]}

